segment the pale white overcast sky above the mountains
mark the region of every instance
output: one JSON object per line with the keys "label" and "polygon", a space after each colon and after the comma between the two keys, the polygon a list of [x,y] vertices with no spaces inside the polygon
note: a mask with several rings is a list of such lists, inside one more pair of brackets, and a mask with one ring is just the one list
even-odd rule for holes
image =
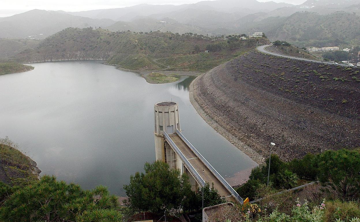
{"label": "pale white overcast sky above the mountains", "polygon": [[[32,9],[64,10],[78,12],[92,9],[122,8],[138,4],[181,5],[197,3],[201,0],[0,0],[0,17],[11,16]],[[239,0],[242,1],[242,0]],[[258,0],[269,1],[269,0]],[[305,0],[274,0],[291,4],[301,4]]]}

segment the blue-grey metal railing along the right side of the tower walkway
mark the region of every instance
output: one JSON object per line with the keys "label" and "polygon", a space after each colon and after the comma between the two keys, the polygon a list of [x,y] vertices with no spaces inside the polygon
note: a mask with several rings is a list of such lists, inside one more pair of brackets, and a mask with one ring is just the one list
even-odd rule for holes
{"label": "blue-grey metal railing along the right side of the tower walkway", "polygon": [[[164,132],[165,134],[165,132]],[[189,146],[190,149],[195,153],[195,155],[207,166],[207,168],[216,176],[217,179],[221,182],[222,185],[226,187],[226,189],[233,195],[241,204],[244,203],[243,198],[234,190],[233,187],[229,185],[229,183],[216,171],[213,166],[201,155],[201,153],[185,138],[185,136],[179,131],[176,130],[176,134],[185,142],[186,145]],[[170,138],[170,137],[169,137]]]}

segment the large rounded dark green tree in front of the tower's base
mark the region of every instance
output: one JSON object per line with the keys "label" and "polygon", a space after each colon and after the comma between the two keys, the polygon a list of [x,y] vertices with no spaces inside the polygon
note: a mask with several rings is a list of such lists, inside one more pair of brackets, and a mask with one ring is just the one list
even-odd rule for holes
{"label": "large rounded dark green tree in front of the tower's base", "polygon": [[145,163],[144,170],[145,173],[136,172],[130,177],[130,184],[124,185],[129,197],[125,204],[134,211],[163,213],[179,209],[186,196],[191,195],[188,176],[171,169],[167,163]]}

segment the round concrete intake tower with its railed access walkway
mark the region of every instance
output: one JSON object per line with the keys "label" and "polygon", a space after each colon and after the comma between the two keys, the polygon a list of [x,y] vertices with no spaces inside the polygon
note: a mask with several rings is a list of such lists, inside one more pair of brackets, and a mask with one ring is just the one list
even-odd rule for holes
{"label": "round concrete intake tower with its railed access walkway", "polygon": [[186,173],[194,191],[207,182],[213,184],[228,201],[243,203],[233,187],[181,133],[179,104],[175,101],[162,101],[154,105],[154,136],[156,160],[179,169],[181,174]]}

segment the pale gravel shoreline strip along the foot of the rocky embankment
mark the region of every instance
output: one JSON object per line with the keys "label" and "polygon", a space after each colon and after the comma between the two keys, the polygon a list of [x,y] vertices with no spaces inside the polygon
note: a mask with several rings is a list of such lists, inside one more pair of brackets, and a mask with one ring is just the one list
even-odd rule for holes
{"label": "pale gravel shoreline strip along the foot of the rocky embankment", "polygon": [[[204,73],[205,74],[205,73]],[[244,142],[237,139],[234,135],[232,135],[229,131],[227,131],[224,127],[222,127],[219,123],[213,120],[206,111],[198,104],[196,99],[194,98],[194,83],[197,79],[193,80],[190,83],[189,87],[189,98],[190,103],[195,108],[196,112],[204,119],[204,121],[209,124],[217,133],[223,136],[226,140],[228,140],[231,144],[233,144],[236,148],[246,154],[250,159],[255,161],[257,164],[264,163],[265,158],[260,155],[255,150],[251,149]]]}

